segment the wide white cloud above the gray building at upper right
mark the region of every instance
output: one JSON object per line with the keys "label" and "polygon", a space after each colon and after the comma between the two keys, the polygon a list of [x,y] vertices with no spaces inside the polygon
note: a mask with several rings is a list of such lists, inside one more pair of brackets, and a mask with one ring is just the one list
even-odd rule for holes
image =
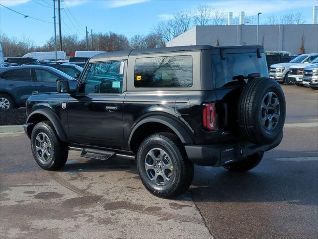
{"label": "wide white cloud above the gray building at upper right", "polygon": [[[317,3],[317,1],[316,1]],[[271,14],[295,8],[311,7],[316,4],[315,0],[225,0],[211,2],[214,8],[233,11],[233,15],[239,15],[239,11],[245,11],[247,15],[255,15],[257,12]]]}

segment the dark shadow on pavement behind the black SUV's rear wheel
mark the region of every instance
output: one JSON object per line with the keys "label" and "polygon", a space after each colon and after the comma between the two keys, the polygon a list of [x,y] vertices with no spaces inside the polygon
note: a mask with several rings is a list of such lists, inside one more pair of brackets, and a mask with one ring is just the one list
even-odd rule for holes
{"label": "dark shadow on pavement behind the black SUV's rear wheel", "polygon": [[[277,150],[278,155],[286,151]],[[302,152],[302,157],[317,157],[317,152]],[[318,161],[275,160],[264,158],[254,169],[234,173],[225,168],[195,167],[190,188],[195,201],[202,202],[287,202],[296,205],[318,204]]]}

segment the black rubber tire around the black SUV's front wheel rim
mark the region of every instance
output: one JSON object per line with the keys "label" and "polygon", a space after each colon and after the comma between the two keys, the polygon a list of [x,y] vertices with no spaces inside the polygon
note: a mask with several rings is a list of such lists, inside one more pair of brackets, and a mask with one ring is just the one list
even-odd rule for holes
{"label": "black rubber tire around the black SUV's front wheel rim", "polygon": [[[50,154],[50,159],[48,159],[45,163],[43,163],[43,160],[41,161],[41,157],[36,150],[36,137],[43,133],[49,138],[52,154]],[[68,144],[60,140],[55,132],[53,124],[50,121],[39,122],[34,126],[31,133],[31,149],[37,164],[41,168],[50,171],[58,170],[63,167],[69,155]]]}

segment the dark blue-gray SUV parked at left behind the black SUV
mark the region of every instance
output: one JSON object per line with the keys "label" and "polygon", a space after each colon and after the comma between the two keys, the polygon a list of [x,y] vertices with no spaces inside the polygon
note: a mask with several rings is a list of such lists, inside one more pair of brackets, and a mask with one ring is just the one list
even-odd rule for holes
{"label": "dark blue-gray SUV parked at left behind the black SUV", "polygon": [[24,106],[35,93],[57,92],[57,80],[75,88],[77,80],[49,66],[13,66],[0,69],[0,109]]}

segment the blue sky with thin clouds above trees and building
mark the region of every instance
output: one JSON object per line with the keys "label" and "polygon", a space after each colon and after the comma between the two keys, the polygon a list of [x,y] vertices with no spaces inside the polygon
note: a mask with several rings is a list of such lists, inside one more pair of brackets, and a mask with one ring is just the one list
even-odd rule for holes
{"label": "blue sky with thin clouds above trees and building", "polygon": [[[180,10],[194,9],[198,4],[211,4],[214,8],[239,11],[246,15],[260,15],[260,24],[270,15],[302,12],[306,23],[312,22],[312,6],[318,0],[62,0],[62,34],[113,31],[127,37],[147,34],[155,24],[169,19]],[[41,20],[53,22],[53,0],[0,0],[0,4]],[[0,32],[8,36],[28,37],[36,45],[43,45],[54,34],[54,24],[41,22],[12,12],[0,6]]]}

